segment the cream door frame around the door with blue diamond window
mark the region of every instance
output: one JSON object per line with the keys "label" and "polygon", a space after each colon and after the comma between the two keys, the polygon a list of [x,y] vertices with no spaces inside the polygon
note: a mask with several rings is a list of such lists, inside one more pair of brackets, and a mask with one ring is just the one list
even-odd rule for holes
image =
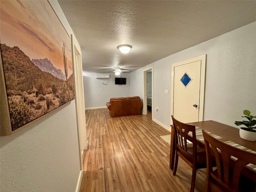
{"label": "cream door frame around the door with blue diamond window", "polygon": [[[173,106],[174,106],[174,67],[201,61],[201,75],[200,75],[200,99],[199,99],[199,121],[202,121],[204,119],[204,85],[205,85],[205,73],[206,73],[206,54],[201,55],[198,57],[194,57],[188,60],[184,60],[178,63],[172,64],[172,80],[171,80],[171,115],[173,115]],[[171,125],[172,125],[172,118],[171,118]]]}

